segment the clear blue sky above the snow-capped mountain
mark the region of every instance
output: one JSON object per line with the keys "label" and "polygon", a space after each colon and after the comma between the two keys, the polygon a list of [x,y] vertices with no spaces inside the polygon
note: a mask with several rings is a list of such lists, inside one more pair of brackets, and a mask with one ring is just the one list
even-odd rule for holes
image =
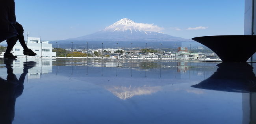
{"label": "clear blue sky above the snow-capped mountain", "polygon": [[[128,18],[191,39],[243,35],[244,0],[15,0],[17,22],[30,37],[63,40]],[[197,28],[196,28],[197,27]],[[187,30],[187,29],[191,30]],[[198,30],[195,30],[198,29]]]}

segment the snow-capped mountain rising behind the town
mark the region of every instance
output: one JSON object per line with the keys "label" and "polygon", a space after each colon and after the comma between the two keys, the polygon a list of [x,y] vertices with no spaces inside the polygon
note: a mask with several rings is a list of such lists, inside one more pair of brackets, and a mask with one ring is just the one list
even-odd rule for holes
{"label": "snow-capped mountain rising behind the town", "polygon": [[153,24],[136,23],[130,19],[121,19],[104,30],[82,37],[67,39],[65,41],[190,41],[181,37],[174,37],[159,31],[163,29]]}

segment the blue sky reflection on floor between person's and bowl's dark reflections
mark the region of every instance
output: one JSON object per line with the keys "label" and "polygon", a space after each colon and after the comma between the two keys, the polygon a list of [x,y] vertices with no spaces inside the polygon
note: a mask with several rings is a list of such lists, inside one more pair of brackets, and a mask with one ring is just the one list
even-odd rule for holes
{"label": "blue sky reflection on floor between person's and bowl's dark reflections", "polygon": [[186,72],[90,65],[58,66],[57,72],[53,66],[40,79],[25,80],[13,124],[241,124],[241,93],[190,87],[210,77],[216,65],[189,63]]}

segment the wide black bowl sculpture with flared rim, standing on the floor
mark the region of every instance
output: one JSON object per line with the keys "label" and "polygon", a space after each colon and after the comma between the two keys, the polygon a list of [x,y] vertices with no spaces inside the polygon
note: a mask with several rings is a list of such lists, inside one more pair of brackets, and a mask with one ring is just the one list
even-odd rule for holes
{"label": "wide black bowl sculpture with flared rim, standing on the floor", "polygon": [[246,62],[256,52],[256,35],[194,37],[217,54],[223,62]]}

